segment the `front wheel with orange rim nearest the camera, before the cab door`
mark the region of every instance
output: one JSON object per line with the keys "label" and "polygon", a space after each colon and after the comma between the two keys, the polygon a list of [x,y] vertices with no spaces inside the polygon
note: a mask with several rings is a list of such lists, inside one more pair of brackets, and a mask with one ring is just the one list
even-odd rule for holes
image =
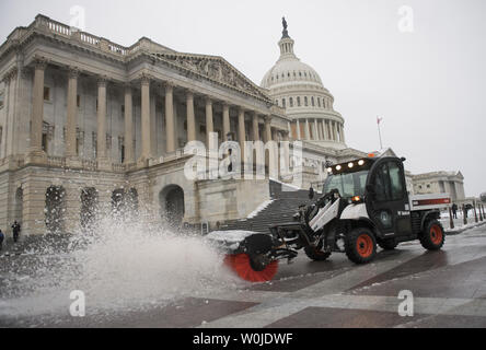
{"label": "front wheel with orange rim nearest the camera, before the cab door", "polygon": [[346,236],[345,250],[352,262],[368,264],[377,256],[377,240],[369,229],[355,229]]}

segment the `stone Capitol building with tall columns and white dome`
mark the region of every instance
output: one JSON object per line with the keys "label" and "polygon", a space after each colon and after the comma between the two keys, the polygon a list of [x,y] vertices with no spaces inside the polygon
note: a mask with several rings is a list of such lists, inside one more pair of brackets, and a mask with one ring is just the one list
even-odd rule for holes
{"label": "stone Capitol building with tall columns and white dome", "polygon": [[128,205],[176,224],[245,218],[270,199],[268,177],[184,176],[185,144],[211,132],[302,141],[303,188],[326,161],[366,156],[346,145],[333,95],[293,44],[284,23],[258,86],[222,57],[146,37],[124,47],[44,15],[15,28],[0,47],[0,229],[73,232]]}

